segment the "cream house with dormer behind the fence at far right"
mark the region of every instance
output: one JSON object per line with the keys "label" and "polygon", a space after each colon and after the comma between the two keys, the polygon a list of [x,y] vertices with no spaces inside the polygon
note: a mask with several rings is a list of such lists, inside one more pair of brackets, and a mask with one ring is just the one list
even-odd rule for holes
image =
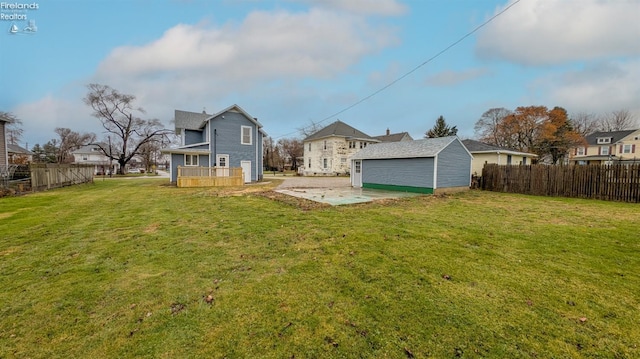
{"label": "cream house with dormer behind the fence at far right", "polygon": [[594,132],[585,140],[585,146],[569,151],[570,163],[587,165],[640,162],[640,129]]}

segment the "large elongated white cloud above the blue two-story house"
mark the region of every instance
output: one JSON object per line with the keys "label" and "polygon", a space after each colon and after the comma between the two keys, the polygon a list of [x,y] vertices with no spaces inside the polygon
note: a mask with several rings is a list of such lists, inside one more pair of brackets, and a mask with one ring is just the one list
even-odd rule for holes
{"label": "large elongated white cloud above the blue two-story house", "polygon": [[344,13],[257,11],[238,26],[180,24],[152,43],[116,48],[98,76],[144,80],[180,71],[227,84],[331,77],[396,41],[389,28]]}

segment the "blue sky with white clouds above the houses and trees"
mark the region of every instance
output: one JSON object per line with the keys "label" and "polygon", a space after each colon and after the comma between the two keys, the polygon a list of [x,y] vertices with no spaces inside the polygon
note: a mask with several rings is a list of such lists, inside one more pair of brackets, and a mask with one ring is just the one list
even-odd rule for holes
{"label": "blue sky with white clouds above the houses and trees", "polygon": [[106,136],[91,83],[167,128],[237,104],[276,140],[338,119],[419,139],[439,116],[474,138],[533,105],[640,123],[640,0],[0,0],[0,83],[28,148]]}

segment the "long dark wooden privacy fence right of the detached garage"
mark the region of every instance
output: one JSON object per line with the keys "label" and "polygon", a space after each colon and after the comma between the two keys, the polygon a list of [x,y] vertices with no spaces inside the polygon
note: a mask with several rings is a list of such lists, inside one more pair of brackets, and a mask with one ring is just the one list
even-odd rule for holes
{"label": "long dark wooden privacy fence right of the detached garage", "polygon": [[500,166],[482,169],[481,188],[539,196],[640,202],[640,164]]}

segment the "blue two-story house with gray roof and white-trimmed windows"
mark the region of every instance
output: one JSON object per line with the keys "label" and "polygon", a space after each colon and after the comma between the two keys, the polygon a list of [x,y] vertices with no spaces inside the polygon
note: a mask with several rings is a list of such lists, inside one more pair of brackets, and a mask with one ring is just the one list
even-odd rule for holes
{"label": "blue two-story house with gray roof and white-trimmed windows", "polygon": [[244,182],[262,179],[262,140],[266,133],[258,119],[238,105],[210,115],[175,111],[175,132],[181,145],[163,149],[170,154],[171,181],[178,166],[242,167]]}

